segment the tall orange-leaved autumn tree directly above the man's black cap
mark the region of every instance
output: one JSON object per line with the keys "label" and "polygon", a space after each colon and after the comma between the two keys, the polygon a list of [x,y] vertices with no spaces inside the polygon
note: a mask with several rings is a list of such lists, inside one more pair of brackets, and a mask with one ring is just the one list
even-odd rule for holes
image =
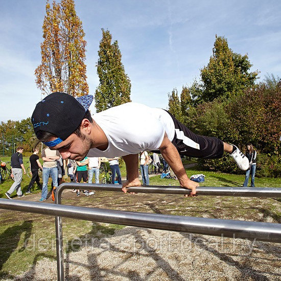
{"label": "tall orange-leaved autumn tree directly above the man's black cap", "polygon": [[42,30],[41,64],[35,69],[37,87],[43,95],[62,91],[79,97],[88,93],[85,33],[74,0],[54,1],[52,7],[47,1]]}

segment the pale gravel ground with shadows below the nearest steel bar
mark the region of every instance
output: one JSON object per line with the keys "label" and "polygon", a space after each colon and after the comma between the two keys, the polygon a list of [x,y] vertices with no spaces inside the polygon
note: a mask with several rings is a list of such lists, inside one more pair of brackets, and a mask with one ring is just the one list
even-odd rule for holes
{"label": "pale gravel ground with shadows below the nearest steel bar", "polygon": [[[65,254],[66,280],[281,280],[279,244],[138,227],[101,237]],[[56,268],[44,258],[13,280],[55,280]]]}

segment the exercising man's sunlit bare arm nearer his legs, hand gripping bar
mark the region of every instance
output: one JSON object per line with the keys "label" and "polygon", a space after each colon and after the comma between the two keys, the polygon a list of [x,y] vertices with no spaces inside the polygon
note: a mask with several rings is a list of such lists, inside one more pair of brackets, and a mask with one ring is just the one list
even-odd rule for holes
{"label": "exercising man's sunlit bare arm nearer his legs, hand gripping bar", "polygon": [[195,195],[196,186],[199,186],[199,184],[195,181],[190,180],[188,175],[186,175],[179,153],[166,134],[161,146],[159,147],[159,150],[163,158],[166,160],[166,162],[169,164],[169,166],[177,176],[180,186],[182,188],[190,189],[192,191],[191,195]]}

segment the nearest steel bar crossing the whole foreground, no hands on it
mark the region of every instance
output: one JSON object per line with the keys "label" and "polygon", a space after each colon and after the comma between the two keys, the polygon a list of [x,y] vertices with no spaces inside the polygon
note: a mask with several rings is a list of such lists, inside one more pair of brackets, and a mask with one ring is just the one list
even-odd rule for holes
{"label": "nearest steel bar crossing the whole foreground, no hands on it", "polygon": [[0,208],[20,212],[59,216],[88,221],[114,223],[172,231],[183,231],[281,243],[281,224],[195,218],[120,210],[46,204],[33,201],[0,199]]}

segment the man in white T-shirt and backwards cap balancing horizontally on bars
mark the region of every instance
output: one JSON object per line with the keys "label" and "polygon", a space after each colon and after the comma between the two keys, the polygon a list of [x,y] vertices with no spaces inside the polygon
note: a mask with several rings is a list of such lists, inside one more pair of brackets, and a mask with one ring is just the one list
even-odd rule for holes
{"label": "man in white T-shirt and backwards cap balancing horizontally on bars", "polygon": [[191,196],[199,184],[189,179],[180,154],[219,158],[227,152],[240,169],[249,167],[248,158],[235,145],[193,133],[166,110],[125,103],[91,117],[88,108],[92,100],[90,95],[75,99],[66,93],[51,93],[33,111],[34,132],[46,146],[59,150],[64,159],[122,156],[128,179],[123,183],[125,193],[130,186],[140,185],[138,153],[144,150],[161,153],[180,186],[191,190]]}

